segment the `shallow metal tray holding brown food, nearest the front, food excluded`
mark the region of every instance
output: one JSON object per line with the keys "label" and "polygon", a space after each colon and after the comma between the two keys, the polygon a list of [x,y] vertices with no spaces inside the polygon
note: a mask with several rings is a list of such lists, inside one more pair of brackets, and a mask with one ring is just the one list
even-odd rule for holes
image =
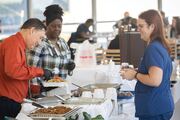
{"label": "shallow metal tray holding brown food, nearest the front, food excluded", "polygon": [[[62,105],[61,105],[62,106]],[[65,107],[69,107],[69,106],[65,106]],[[70,107],[72,110],[70,110],[69,112],[65,113],[65,114],[46,114],[46,113],[34,113],[36,110],[33,110],[28,116],[30,116],[31,118],[49,118],[49,117],[57,117],[57,118],[64,118],[67,116],[71,116],[73,114],[75,114],[79,109],[81,109],[81,107]]]}

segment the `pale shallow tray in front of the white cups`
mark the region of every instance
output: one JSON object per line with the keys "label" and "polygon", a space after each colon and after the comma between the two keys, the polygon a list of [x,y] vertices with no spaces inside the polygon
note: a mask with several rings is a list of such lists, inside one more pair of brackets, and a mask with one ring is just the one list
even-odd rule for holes
{"label": "pale shallow tray in front of the white cups", "polygon": [[104,103],[106,99],[104,98],[81,98],[74,97],[68,99],[64,104],[73,104],[73,105],[89,105],[89,104],[101,104]]}

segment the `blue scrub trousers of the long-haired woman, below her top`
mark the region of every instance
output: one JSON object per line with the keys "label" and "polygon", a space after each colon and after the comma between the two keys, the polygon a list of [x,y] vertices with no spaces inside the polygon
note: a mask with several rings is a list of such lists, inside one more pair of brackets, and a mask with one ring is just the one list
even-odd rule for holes
{"label": "blue scrub trousers of the long-haired woman, below her top", "polygon": [[139,117],[139,120],[170,120],[173,112],[168,112],[165,114],[151,116],[151,117]]}

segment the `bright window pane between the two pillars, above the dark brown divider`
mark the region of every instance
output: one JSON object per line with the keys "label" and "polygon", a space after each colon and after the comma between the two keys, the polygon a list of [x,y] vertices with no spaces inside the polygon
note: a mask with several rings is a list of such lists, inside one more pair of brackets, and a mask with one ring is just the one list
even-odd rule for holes
{"label": "bright window pane between the two pillars, above the dark brown divider", "polygon": [[116,21],[122,19],[124,12],[128,11],[131,17],[137,18],[138,14],[147,9],[157,9],[157,0],[97,0],[97,31],[111,32]]}

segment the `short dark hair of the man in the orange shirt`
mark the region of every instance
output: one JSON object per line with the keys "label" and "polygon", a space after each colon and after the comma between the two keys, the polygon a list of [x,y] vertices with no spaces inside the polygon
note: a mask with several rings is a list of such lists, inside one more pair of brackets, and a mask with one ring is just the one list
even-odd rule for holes
{"label": "short dark hair of the man in the orange shirt", "polygon": [[46,26],[41,22],[41,20],[37,18],[30,18],[27,21],[24,22],[24,24],[21,26],[21,29],[29,29],[34,27],[35,29],[46,29]]}

